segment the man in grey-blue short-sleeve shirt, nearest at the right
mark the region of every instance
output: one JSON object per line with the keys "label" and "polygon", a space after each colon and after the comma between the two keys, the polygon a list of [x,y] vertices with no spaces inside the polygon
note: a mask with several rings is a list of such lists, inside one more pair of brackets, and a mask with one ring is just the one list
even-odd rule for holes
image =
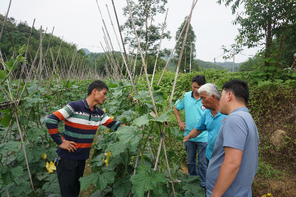
{"label": "man in grey-blue short-sleeve shirt, nearest at the right", "polygon": [[228,115],[220,128],[207,170],[207,197],[252,197],[258,169],[259,134],[249,113],[245,81],[224,83],[220,111]]}

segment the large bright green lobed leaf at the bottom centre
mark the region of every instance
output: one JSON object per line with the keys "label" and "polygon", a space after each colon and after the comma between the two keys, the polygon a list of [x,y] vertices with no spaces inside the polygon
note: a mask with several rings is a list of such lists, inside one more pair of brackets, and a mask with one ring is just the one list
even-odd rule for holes
{"label": "large bright green lobed leaf at the bottom centre", "polygon": [[162,193],[161,184],[166,183],[164,174],[157,170],[152,171],[150,166],[140,165],[136,167],[137,173],[132,175],[130,180],[134,183],[133,191],[139,197],[144,197],[144,193],[148,190],[153,190],[155,194]]}

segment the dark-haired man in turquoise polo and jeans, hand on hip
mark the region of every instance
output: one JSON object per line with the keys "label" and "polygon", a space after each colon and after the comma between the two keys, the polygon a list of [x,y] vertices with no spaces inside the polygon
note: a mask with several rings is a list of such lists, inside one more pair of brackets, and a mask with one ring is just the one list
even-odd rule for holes
{"label": "dark-haired man in turquoise polo and jeans, hand on hip", "polygon": [[[199,121],[201,115],[205,111],[199,97],[198,89],[206,83],[204,75],[196,75],[192,78],[192,91],[187,92],[184,98],[176,101],[174,106],[174,114],[177,118],[181,131],[184,131],[184,136],[194,128]],[[180,110],[185,110],[185,123],[180,118]],[[184,143],[187,153],[187,168],[188,173],[192,176],[200,176],[201,187],[206,186],[207,159],[206,148],[208,145],[208,132],[205,131],[196,138],[192,138]],[[198,157],[198,170],[196,166],[196,152]]]}

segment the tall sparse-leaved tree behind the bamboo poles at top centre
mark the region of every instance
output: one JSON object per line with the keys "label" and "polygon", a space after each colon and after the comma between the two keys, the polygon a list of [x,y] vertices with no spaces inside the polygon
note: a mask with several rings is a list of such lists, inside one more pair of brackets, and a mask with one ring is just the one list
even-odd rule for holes
{"label": "tall sparse-leaved tree behind the bamboo poles at top centre", "polygon": [[[140,39],[141,30],[142,30],[142,38],[141,38],[141,49],[143,52],[143,56],[145,55],[146,46],[147,47],[147,53],[145,56],[145,64],[147,67],[148,74],[152,74],[154,64],[152,64],[153,61],[148,61],[149,57],[153,57],[156,59],[156,54],[159,46],[159,40],[161,37],[162,27],[163,24],[154,25],[153,23],[150,24],[150,20],[153,16],[155,16],[158,13],[164,13],[165,12],[165,4],[167,3],[167,0],[139,0],[139,3],[135,3],[134,1],[130,1],[130,7],[133,15],[133,19],[135,22],[135,26],[137,29],[137,34]],[[132,48],[138,48],[138,43],[136,42],[136,36],[134,33],[134,29],[132,26],[130,14],[128,11],[128,7],[123,8],[123,15],[128,17],[127,21],[121,26],[121,30],[124,31],[125,37],[124,37],[124,43],[131,46]],[[154,20],[152,19],[152,22]],[[150,32],[150,35],[149,35]],[[162,39],[167,38],[170,39],[170,31],[164,32],[162,35]],[[135,50],[137,51],[137,50]],[[163,49],[160,50],[158,55],[158,60],[160,60],[161,57],[164,57],[165,55],[170,55],[169,50]],[[142,67],[142,61],[140,55],[138,55],[138,61],[140,60]],[[151,64],[149,64],[150,62]],[[157,63],[158,64],[158,63]],[[137,64],[138,65],[138,64]],[[156,65],[157,66],[157,65]],[[133,67],[133,66],[131,66]],[[138,68],[136,68],[138,70]],[[149,70],[152,70],[150,72]],[[137,73],[137,72],[136,72]]]}

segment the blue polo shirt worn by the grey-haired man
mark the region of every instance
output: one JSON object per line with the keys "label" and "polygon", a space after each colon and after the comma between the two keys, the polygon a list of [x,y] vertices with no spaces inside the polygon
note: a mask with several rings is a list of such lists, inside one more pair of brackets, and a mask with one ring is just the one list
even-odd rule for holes
{"label": "blue polo shirt worn by the grey-haired man", "polygon": [[[211,109],[206,109],[205,113],[200,117],[195,129],[208,133],[208,146],[206,149],[206,157],[210,160],[214,150],[215,142],[219,133],[219,130],[226,120],[227,116],[218,111],[217,115],[213,117]],[[201,132],[199,135],[201,135]],[[198,136],[199,136],[198,135]]]}

